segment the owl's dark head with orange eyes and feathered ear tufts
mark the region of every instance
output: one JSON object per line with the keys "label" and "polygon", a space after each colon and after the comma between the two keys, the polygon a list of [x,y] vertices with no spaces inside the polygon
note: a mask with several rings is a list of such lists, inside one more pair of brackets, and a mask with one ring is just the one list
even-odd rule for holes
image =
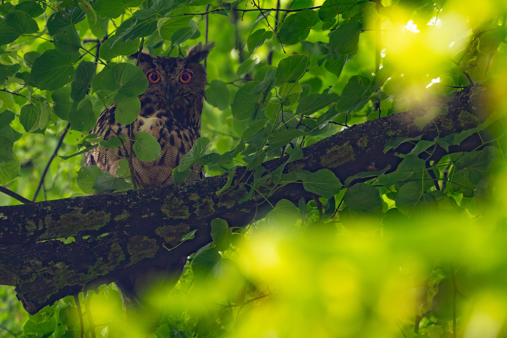
{"label": "owl's dark head with orange eyes and feathered ear tufts", "polygon": [[[188,110],[202,101],[206,87],[206,69],[200,63],[209,54],[213,42],[199,43],[189,49],[186,57],[152,56],[141,53],[139,67],[149,85],[143,95],[177,110]],[[138,54],[130,56],[137,59]]]}

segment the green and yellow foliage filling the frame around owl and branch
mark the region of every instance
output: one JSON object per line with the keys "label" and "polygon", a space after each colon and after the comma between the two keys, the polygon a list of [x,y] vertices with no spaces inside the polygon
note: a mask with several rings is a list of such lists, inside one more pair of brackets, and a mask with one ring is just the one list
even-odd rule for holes
{"label": "green and yellow foliage filling the frame around owl and branch", "polygon": [[[184,56],[207,37],[215,48],[203,137],[174,176],[185,180],[195,162],[208,176],[232,177],[244,165],[255,178],[244,199],[268,179],[300,181],[321,196],[281,200],[242,229],[213,220],[213,243],[134,318],[124,320],[114,285],[80,294],[85,336],[137,337],[146,326],[158,337],[507,336],[504,1],[4,0],[0,16],[0,184],[8,189],[42,201],[130,187],[127,161],[107,176],[71,155],[104,145],[86,135],[105,106],[117,104],[121,123],[137,116],[147,81],[127,56],[141,43],[153,55]],[[347,126],[470,82],[488,87],[492,118],[463,111],[462,133],[393,137],[385,151],[413,144],[394,172],[372,163],[375,175],[344,182],[329,170],[264,173],[266,160],[301,159],[304,146]],[[486,146],[424,160],[437,144],[448,149],[485,128],[493,133]],[[145,136],[136,155],[157,157]],[[51,161],[55,149],[61,157]],[[0,195],[1,205],[18,203]],[[2,287],[0,309],[0,337],[80,336],[74,297],[28,316]]]}

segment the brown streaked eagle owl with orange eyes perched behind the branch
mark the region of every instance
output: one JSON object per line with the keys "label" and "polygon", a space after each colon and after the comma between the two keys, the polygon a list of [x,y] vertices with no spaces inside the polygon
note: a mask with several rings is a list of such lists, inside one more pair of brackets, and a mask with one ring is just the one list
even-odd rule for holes
{"label": "brown streaked eagle owl with orange eyes perched behind the branch", "polygon": [[[172,183],[172,169],[199,138],[206,86],[206,69],[200,61],[204,60],[212,47],[213,43],[199,43],[183,58],[141,53],[139,67],[146,74],[149,85],[139,95],[141,111],[133,122],[133,136],[135,138],[139,131],[153,135],[160,143],[161,157],[146,162],[133,155],[132,166],[139,186]],[[137,54],[131,55],[131,58],[137,59]],[[132,138],[129,126],[116,122],[115,109],[114,105],[105,109],[91,133],[103,135],[104,140],[111,139],[115,134]],[[115,174],[120,160],[128,158],[129,151],[128,143],[115,149],[97,147],[85,154],[85,166],[97,165],[102,172]],[[196,164],[190,179],[201,176],[202,170]],[[174,259],[166,255],[120,276],[117,286],[124,302],[139,303],[142,290],[157,279],[167,279],[167,275],[179,278],[186,260],[186,257]]]}

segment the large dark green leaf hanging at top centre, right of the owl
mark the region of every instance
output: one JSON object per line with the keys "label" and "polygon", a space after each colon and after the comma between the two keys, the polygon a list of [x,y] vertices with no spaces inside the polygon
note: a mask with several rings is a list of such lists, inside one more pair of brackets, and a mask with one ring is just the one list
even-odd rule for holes
{"label": "large dark green leaf hanging at top centre, right of the owl", "polygon": [[318,22],[317,12],[305,9],[289,15],[283,21],[278,36],[284,45],[295,45],[305,40],[312,28]]}

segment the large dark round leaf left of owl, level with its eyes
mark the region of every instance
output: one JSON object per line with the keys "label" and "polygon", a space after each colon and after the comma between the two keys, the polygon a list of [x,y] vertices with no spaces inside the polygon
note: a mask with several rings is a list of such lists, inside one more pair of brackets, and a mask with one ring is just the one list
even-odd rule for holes
{"label": "large dark round leaf left of owl, level with its eyes", "polygon": [[56,90],[74,79],[73,64],[79,55],[62,54],[55,49],[45,51],[33,61],[31,80],[44,90]]}

